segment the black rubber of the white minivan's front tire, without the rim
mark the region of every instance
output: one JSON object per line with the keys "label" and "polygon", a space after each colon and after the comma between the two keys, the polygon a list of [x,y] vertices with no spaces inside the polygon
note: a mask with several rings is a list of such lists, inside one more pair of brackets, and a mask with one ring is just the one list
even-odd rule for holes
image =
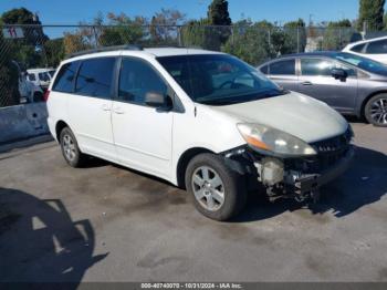
{"label": "black rubber of the white minivan's front tire, without the rim", "polygon": [[[220,205],[213,199],[219,208],[209,210],[203,205],[207,201],[207,198],[203,197],[202,201],[199,201],[195,196],[195,191],[200,189],[195,188],[197,185],[194,184],[192,179],[194,175],[197,174],[200,168],[209,168],[210,170],[213,170],[212,173],[217,174],[222,182],[220,188],[222,188],[223,201]],[[203,187],[205,186],[202,186],[201,189]],[[244,178],[237,172],[230,169],[224,164],[222,157],[209,153],[197,155],[188,164],[186,170],[186,188],[194,199],[195,207],[202,215],[220,221],[228,220],[238,215],[245,206],[248,196]]]}

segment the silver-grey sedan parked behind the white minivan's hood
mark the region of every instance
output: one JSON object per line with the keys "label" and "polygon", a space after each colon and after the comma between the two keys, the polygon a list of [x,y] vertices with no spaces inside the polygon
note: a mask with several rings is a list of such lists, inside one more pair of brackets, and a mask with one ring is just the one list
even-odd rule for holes
{"label": "silver-grey sedan parked behind the white minivan's hood", "polygon": [[346,52],[313,52],[285,55],[258,69],[284,89],[387,126],[387,66],[379,62]]}

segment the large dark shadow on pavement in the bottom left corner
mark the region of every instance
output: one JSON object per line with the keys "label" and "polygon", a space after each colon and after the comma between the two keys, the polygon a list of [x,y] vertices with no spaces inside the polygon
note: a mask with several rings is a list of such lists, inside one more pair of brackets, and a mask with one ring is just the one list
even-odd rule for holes
{"label": "large dark shadow on pavement in the bottom left corner", "polygon": [[0,187],[0,282],[72,282],[107,253],[93,256],[88,220],[73,221],[59,199]]}

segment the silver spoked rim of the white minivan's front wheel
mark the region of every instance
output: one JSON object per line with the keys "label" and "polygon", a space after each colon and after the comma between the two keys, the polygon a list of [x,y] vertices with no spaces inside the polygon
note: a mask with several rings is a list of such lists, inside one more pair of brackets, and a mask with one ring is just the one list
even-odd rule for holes
{"label": "silver spoked rim of the white minivan's front wheel", "polygon": [[209,166],[201,166],[194,172],[192,189],[196,200],[207,210],[216,211],[224,203],[223,182]]}

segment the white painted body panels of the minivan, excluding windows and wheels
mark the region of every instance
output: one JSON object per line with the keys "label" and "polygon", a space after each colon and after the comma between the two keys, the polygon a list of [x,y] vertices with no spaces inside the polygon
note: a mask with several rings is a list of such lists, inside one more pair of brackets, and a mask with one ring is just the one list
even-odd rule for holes
{"label": "white painted body panels of the minivan, excluding windows and wheels", "polygon": [[[135,168],[178,185],[178,162],[192,148],[221,153],[245,144],[237,124],[254,122],[289,132],[305,142],[344,133],[348,124],[324,103],[299,93],[229,106],[195,103],[156,60],[156,56],[209,54],[192,49],[122,50],[76,56],[61,63],[100,56],[135,56],[150,63],[176,92],[184,113],[158,113],[153,107],[112,100],[52,92],[49,126],[65,122],[83,153]],[[60,71],[60,69],[56,71]],[[56,74],[54,79],[56,77]]]}

